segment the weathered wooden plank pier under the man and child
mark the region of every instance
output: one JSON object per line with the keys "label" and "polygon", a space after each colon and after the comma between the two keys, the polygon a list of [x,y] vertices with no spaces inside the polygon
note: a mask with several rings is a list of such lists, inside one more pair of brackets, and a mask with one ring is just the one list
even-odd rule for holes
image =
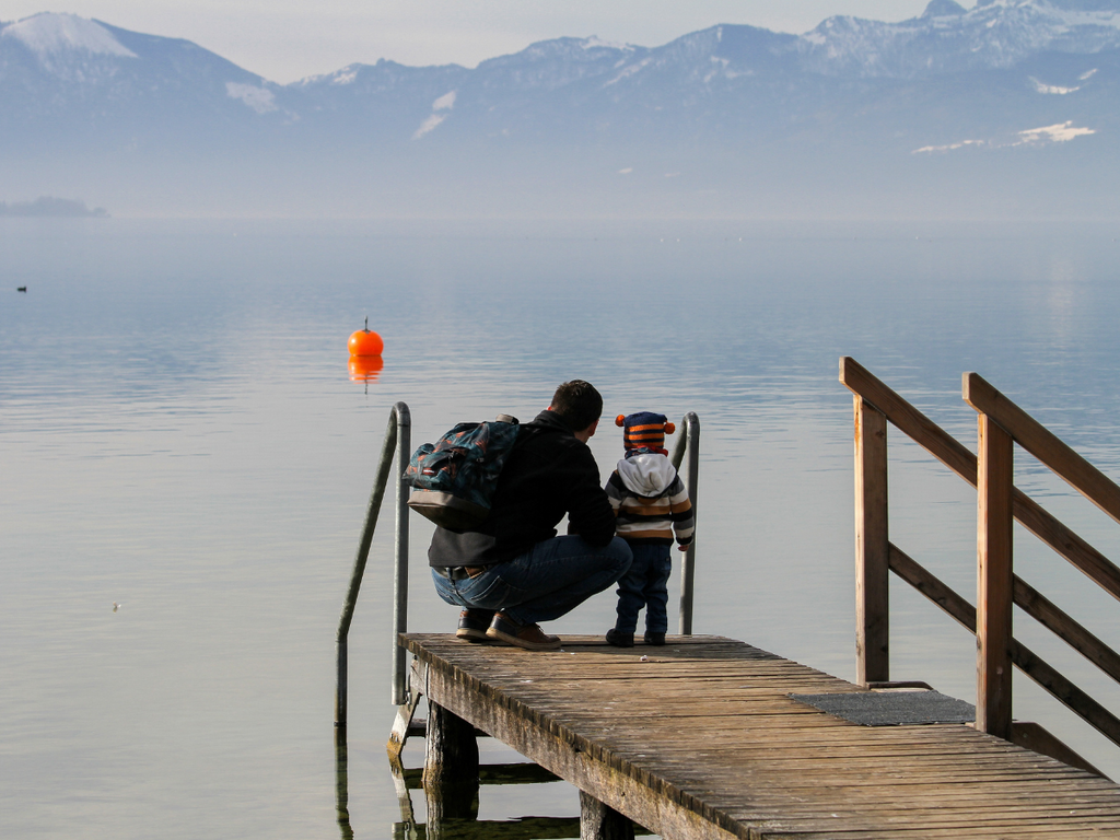
{"label": "weathered wooden plank pier under the man and child", "polygon": [[872,692],[741,642],[564,642],[401,636],[412,708],[431,707],[426,781],[477,783],[477,728],[580,790],[585,838],[628,820],[688,840],[1120,838],[1117,784],[960,722],[834,717],[791,696]]}

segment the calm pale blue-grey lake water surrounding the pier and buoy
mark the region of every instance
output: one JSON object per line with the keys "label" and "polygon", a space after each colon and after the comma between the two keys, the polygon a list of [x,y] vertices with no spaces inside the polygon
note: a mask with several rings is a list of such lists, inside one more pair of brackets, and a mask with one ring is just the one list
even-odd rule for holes
{"label": "calm pale blue-grey lake water surrounding the pier and buoy", "polygon": [[[460,420],[528,419],[573,377],[608,417],[696,411],[696,632],[848,679],[839,356],[970,448],[960,374],[978,371],[1120,476],[1117,225],[0,222],[6,838],[339,836],[334,636],[398,400],[413,445]],[[346,339],[366,316],[384,367],[352,381]],[[971,599],[974,495],[900,437],[892,540]],[[620,432],[591,448],[606,477]],[[1026,456],[1017,482],[1120,559],[1120,528]],[[351,632],[357,838],[401,819],[384,754],[391,522],[386,506]],[[450,632],[430,530],[412,529],[410,629]],[[1118,605],[1016,536],[1019,575],[1120,644]],[[973,700],[972,637],[904,585],[892,597],[893,678]],[[550,629],[603,633],[613,616],[607,592]],[[1120,710],[1108,678],[1016,622]],[[1017,718],[1120,776],[1120,749],[1029,681],[1016,692]],[[482,792],[488,820],[578,811],[563,783]]]}

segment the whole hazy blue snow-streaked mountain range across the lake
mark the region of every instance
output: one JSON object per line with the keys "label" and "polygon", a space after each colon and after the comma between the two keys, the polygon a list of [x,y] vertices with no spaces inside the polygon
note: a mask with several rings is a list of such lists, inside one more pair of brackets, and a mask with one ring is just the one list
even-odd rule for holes
{"label": "whole hazy blue snow-streaked mountain range across the lake", "polygon": [[223,186],[268,172],[270,189],[307,190],[439,171],[461,193],[542,166],[566,187],[652,167],[726,192],[806,168],[869,184],[955,166],[971,183],[1048,148],[1068,171],[1091,158],[1103,189],[1120,168],[1120,0],[932,0],[897,24],[721,25],[657,47],[558,38],[473,69],[381,60],[290,85],[189,41],[43,13],[0,24],[0,105],[24,179],[58,160],[83,177],[198,186],[216,167]]}

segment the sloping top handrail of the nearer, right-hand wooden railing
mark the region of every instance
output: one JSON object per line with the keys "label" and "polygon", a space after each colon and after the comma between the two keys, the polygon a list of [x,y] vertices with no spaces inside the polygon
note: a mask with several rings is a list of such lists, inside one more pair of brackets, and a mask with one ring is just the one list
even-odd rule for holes
{"label": "sloping top handrail of the nearer, right-hand wooden railing", "polygon": [[1075,491],[1120,522],[1120,487],[1045,426],[992,388],[980,374],[963,375],[965,402],[988,414],[1015,440]]}

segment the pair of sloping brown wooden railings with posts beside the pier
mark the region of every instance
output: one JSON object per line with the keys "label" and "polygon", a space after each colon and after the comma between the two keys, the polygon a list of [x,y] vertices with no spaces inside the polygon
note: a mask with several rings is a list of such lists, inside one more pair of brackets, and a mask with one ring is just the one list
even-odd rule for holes
{"label": "pair of sloping brown wooden railings with posts beside the pier", "polygon": [[[1012,520],[1120,600],[1120,569],[1012,484],[1014,444],[1120,522],[1120,487],[976,373],[963,398],[979,413],[979,454],[936,426],[858,362],[840,360],[855,394],[857,678],[889,681],[888,572],[893,571],[977,636],[977,721],[1012,738],[1011,665],[1120,745],[1120,719],[1011,635],[1018,606],[1120,682],[1120,655],[1014,573]],[[977,488],[977,606],[888,539],[887,421]]]}

